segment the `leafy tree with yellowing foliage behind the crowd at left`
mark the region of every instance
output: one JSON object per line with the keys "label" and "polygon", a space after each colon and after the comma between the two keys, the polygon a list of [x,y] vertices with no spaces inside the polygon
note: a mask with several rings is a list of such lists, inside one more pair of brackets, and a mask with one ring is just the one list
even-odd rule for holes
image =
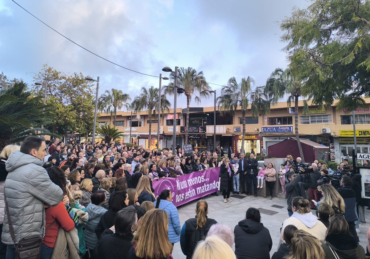
{"label": "leafy tree with yellowing foliage behind the crowd at left", "polygon": [[[35,82],[47,83],[46,104],[54,110],[56,117],[48,129],[64,135],[67,131],[87,136],[94,122],[94,85],[85,80],[81,73],[66,75],[48,65],[34,75]],[[44,85],[31,88],[36,95],[44,95]]]}

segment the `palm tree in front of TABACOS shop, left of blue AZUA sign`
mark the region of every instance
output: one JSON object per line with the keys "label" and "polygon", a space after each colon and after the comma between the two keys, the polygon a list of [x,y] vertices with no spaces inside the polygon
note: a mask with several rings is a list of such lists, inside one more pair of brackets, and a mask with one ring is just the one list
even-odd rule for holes
{"label": "palm tree in front of TABACOS shop, left of blue AZUA sign", "polygon": [[238,106],[241,107],[243,133],[242,148],[240,152],[242,153],[244,153],[246,111],[250,109],[252,117],[255,118],[260,114],[269,114],[270,112],[270,100],[267,99],[267,96],[263,91],[264,87],[254,88],[254,84],[255,81],[251,77],[242,78],[239,84],[236,82],[235,77],[231,77],[228,84],[222,87],[221,96],[216,99],[220,112],[223,115],[235,112],[238,110]]}

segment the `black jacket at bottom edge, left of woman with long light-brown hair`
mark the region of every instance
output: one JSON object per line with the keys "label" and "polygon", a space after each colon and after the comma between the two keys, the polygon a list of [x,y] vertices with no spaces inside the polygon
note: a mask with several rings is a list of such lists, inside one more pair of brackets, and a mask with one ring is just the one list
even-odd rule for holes
{"label": "black jacket at bottom edge, left of woman with long light-brown hair", "polygon": [[94,258],[126,258],[133,238],[132,234],[119,236],[110,229],[105,229],[94,248]]}

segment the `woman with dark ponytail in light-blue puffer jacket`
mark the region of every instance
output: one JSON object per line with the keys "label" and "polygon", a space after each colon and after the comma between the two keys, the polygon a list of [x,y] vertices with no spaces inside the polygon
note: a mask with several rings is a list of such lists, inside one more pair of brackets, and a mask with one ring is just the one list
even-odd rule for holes
{"label": "woman with dark ponytail in light-blue puffer jacket", "polygon": [[180,240],[180,218],[176,206],[172,203],[172,192],[170,190],[163,190],[158,196],[157,201],[154,202],[156,209],[163,209],[168,214],[168,238],[174,244]]}

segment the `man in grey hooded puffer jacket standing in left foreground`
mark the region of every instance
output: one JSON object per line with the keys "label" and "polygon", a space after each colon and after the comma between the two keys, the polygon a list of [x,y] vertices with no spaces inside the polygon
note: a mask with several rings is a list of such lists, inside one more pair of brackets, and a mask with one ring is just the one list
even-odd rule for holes
{"label": "man in grey hooded puffer jacket standing in left foreground", "polygon": [[[5,166],[9,172],[4,194],[13,224],[15,243],[23,238],[45,235],[44,205],[56,206],[63,199],[63,191],[51,182],[42,167],[46,156],[45,139],[36,136],[27,137],[20,151],[14,151]],[[14,242],[9,231],[8,218],[4,216],[1,241],[8,246],[8,253],[13,253]],[[9,257],[9,258],[12,258]]]}

